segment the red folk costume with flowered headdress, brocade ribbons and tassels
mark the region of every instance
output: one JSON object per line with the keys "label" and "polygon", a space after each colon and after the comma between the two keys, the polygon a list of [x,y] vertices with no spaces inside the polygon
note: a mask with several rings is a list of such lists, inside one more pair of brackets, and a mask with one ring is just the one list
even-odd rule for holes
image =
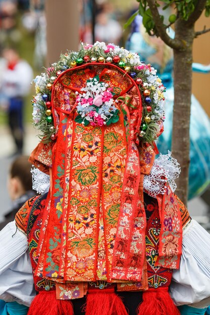
{"label": "red folk costume with flowered headdress, brocade ribbons and tassels", "polygon": [[[178,315],[176,305],[207,298],[206,306],[210,289],[191,283],[196,268],[210,282],[206,253],[189,250],[201,227],[173,193],[177,162],[170,153],[155,160],[164,87],[154,68],[113,44],[82,45],[36,78],[36,92],[42,141],[30,161],[50,189],[10,223],[28,240],[16,255],[29,248],[38,294],[28,314]],[[185,244],[191,277],[179,269],[180,259],[188,266]]]}

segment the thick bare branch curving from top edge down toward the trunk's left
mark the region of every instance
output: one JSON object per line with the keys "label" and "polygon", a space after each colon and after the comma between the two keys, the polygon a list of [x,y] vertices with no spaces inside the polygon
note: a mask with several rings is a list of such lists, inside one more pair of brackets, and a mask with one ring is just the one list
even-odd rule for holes
{"label": "thick bare branch curving from top edge down toward the trunk's left", "polygon": [[159,36],[161,39],[166,43],[166,45],[170,46],[173,49],[182,49],[183,44],[181,41],[176,40],[171,38],[167,33],[166,33],[166,27],[164,26],[160,14],[158,12],[156,3],[154,0],[148,0],[148,5],[150,7],[151,13],[153,15],[153,20],[155,22],[155,26],[159,32]]}

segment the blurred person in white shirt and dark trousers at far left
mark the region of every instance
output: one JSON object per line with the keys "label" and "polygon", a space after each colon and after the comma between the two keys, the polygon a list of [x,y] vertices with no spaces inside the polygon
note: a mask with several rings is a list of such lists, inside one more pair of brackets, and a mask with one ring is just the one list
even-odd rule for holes
{"label": "blurred person in white shirt and dark trousers at far left", "polygon": [[22,154],[24,97],[30,91],[33,71],[27,61],[20,59],[14,48],[5,48],[3,59],[5,67],[0,77],[0,99],[2,107],[7,111],[8,125],[16,145],[14,154]]}

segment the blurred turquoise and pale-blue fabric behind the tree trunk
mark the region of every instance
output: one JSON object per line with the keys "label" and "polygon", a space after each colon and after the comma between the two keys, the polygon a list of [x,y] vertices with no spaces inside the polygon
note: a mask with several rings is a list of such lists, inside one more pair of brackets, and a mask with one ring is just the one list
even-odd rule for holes
{"label": "blurred turquoise and pale-blue fabric behind the tree trunk", "polygon": [[[126,43],[126,48],[131,52],[137,52],[141,60],[145,63],[152,63],[157,69],[157,74],[166,87],[166,104],[164,132],[158,138],[157,146],[162,154],[167,154],[171,150],[172,122],[174,105],[173,88],[173,57],[169,55],[164,66],[155,61],[157,52],[154,45],[150,44],[151,38],[145,40],[141,34],[142,19],[136,17],[132,23],[132,31]],[[169,36],[174,37],[174,31],[170,29]],[[153,56],[153,62],[150,61]],[[160,61],[160,60],[159,60]],[[208,73],[209,66],[193,63],[193,71]],[[203,74],[204,76],[204,74]],[[204,77],[203,77],[204,80]],[[208,100],[206,100],[207,102]],[[179,161],[178,161],[179,162]],[[191,116],[190,116],[190,166],[189,166],[189,194],[188,199],[196,197],[204,192],[210,184],[210,119],[202,109],[200,103],[192,95]]]}

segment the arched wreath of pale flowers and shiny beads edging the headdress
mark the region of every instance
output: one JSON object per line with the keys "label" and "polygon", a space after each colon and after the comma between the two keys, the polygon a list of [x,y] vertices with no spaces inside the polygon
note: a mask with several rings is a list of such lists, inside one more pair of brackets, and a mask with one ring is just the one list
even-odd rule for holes
{"label": "arched wreath of pale flowers and shiny beads edging the headdress", "polygon": [[[83,63],[95,63],[97,61],[101,63],[101,66],[103,66],[104,62],[113,63],[115,66],[128,72],[130,80],[135,80],[139,91],[144,96],[142,97],[143,123],[139,136],[141,136],[143,143],[153,143],[165,119],[163,114],[163,92],[165,88],[161,79],[156,75],[155,69],[150,64],[147,65],[139,60],[137,54],[130,53],[123,47],[118,47],[114,44],[106,45],[100,42],[96,42],[94,45],[82,44],[79,52],[70,51],[62,54],[57,62],[46,69],[45,73],[35,78],[36,95],[32,101],[33,120],[34,126],[40,130],[40,137],[44,136],[46,142],[54,139],[54,136],[52,136],[55,133],[54,126],[51,125],[49,127],[48,124],[43,123],[43,119],[53,124],[51,113],[47,116],[46,111],[51,111],[51,91],[56,78],[69,67],[74,68]],[[47,113],[49,112],[47,111]],[[142,129],[144,124],[147,132]]]}

